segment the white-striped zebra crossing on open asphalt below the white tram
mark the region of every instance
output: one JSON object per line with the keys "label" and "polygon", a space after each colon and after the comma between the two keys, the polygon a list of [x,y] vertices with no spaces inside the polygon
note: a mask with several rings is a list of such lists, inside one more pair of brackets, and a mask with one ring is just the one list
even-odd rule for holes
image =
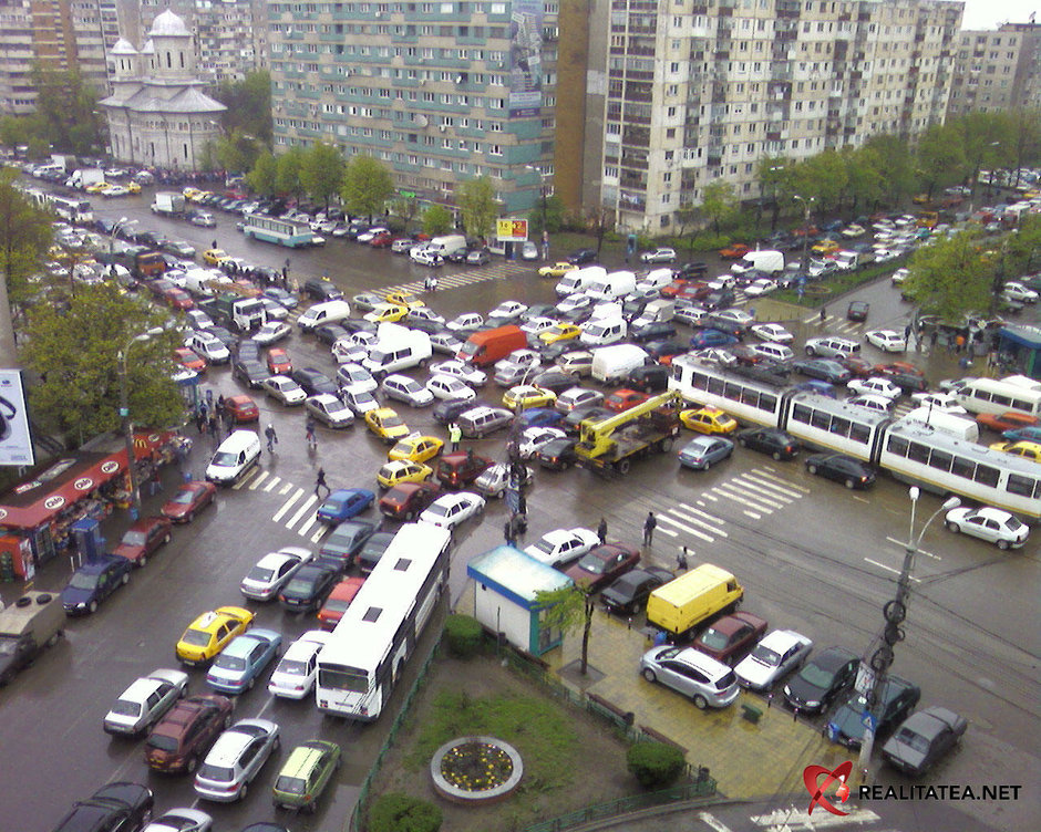
{"label": "white-striped zebra crossing on open asphalt below the white tram", "polygon": [[762,520],[808,493],[808,488],[779,477],[775,468],[761,466],[705,489],[690,502],[662,510],[657,516],[657,532],[674,539],[693,538],[714,543],[730,537],[725,528],[728,521],[721,517],[725,509],[736,507],[749,519]]}

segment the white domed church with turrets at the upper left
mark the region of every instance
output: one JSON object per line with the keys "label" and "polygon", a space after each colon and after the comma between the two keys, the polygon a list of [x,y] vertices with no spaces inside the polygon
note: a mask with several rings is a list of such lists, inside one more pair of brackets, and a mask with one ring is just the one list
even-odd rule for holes
{"label": "white domed church with turrets at the upper left", "polygon": [[138,52],[123,38],[109,53],[112,95],[101,101],[112,156],[138,167],[196,170],[227,110],[195,76],[195,44],[169,9],[158,14]]}

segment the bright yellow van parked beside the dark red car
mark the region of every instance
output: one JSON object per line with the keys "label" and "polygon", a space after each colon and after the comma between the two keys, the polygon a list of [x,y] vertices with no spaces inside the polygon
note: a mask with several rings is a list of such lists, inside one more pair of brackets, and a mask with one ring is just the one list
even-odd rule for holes
{"label": "bright yellow van parked beside the dark red car", "polygon": [[702,563],[647,599],[647,623],[683,637],[718,612],[734,607],[744,587],[726,570]]}

